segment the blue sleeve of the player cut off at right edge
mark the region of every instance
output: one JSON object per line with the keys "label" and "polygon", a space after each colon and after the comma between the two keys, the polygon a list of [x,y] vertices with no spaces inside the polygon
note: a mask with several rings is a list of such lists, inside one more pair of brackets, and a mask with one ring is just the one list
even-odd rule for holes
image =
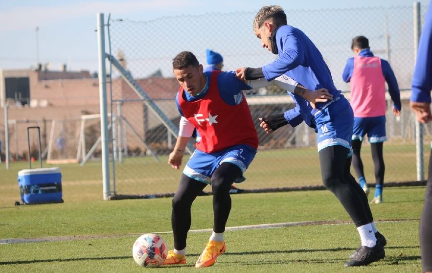
{"label": "blue sleeve of the player cut off at right edge", "polygon": [[411,81],[411,101],[431,103],[432,89],[432,1],[426,13]]}

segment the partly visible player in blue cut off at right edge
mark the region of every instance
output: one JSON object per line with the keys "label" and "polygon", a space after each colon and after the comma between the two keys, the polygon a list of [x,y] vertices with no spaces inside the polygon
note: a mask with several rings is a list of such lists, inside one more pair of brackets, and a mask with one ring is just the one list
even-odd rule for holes
{"label": "partly visible player in blue cut off at right edge", "polygon": [[[432,120],[432,1],[429,4],[420,36],[411,87],[412,111],[419,122],[430,122]],[[432,149],[429,158],[425,205],[420,218],[420,250],[423,272],[432,272]]]}

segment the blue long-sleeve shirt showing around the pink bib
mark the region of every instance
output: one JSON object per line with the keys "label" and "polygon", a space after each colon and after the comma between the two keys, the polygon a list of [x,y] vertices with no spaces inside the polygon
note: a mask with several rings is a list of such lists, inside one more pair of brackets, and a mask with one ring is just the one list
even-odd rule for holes
{"label": "blue long-sleeve shirt showing around the pink bib", "polygon": [[[361,57],[373,57],[372,51],[369,48],[364,48],[359,52],[359,56]],[[399,85],[397,84],[396,77],[393,73],[393,70],[390,67],[390,64],[381,59],[381,70],[383,71],[384,78],[386,79],[388,85],[388,93],[390,94],[391,100],[393,101],[393,107],[396,110],[402,109],[401,96],[399,92]],[[352,73],[354,71],[354,57],[349,58],[346,61],[345,68],[342,72],[342,79],[345,82],[351,81]]]}

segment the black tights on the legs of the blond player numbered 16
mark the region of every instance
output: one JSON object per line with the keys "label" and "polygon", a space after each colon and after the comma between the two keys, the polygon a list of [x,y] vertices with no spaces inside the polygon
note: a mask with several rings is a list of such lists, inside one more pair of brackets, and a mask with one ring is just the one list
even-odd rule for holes
{"label": "black tights on the legs of the blond player numbered 16", "polygon": [[351,175],[351,158],[346,156],[349,149],[341,146],[329,146],[319,151],[322,182],[336,195],[348,212],[356,227],[373,221],[367,196]]}

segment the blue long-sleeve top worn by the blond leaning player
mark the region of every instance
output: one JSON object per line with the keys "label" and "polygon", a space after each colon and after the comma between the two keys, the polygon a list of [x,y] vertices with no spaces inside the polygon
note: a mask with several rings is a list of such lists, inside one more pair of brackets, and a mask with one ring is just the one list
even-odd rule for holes
{"label": "blue long-sleeve top worn by the blond leaning player", "polygon": [[[326,88],[333,98],[341,95],[321,52],[306,34],[291,25],[283,25],[277,30],[275,38],[279,57],[262,67],[268,81],[285,74],[309,90]],[[326,103],[317,103],[317,109],[313,110],[302,97],[290,95],[296,107],[284,113],[285,119],[293,127],[300,124],[302,119],[309,126],[313,125],[314,114]]]}

